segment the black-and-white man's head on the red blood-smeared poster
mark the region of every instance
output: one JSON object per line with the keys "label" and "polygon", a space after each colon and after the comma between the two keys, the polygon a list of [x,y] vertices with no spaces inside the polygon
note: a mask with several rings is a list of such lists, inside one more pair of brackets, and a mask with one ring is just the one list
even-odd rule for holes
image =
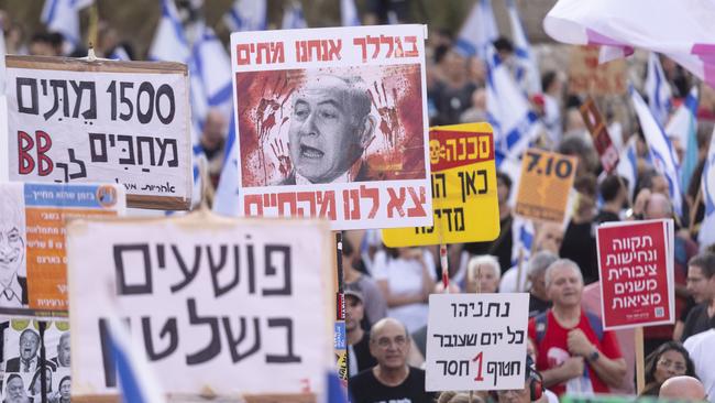
{"label": "black-and-white man's head on the red blood-smeared poster", "polygon": [[[358,79],[319,76],[298,90],[288,131],[297,182],[348,182],[373,138],[371,101]],[[305,181],[302,181],[305,183]]]}

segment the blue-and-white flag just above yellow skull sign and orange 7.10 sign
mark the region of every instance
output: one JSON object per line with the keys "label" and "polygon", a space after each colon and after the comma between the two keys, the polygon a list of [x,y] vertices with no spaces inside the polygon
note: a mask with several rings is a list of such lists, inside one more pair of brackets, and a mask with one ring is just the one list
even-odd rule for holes
{"label": "blue-and-white flag just above yellow skull sign and orange 7.10 sign", "polygon": [[505,157],[518,159],[543,130],[529,101],[506,65],[490,46],[486,109],[494,128],[495,148]]}

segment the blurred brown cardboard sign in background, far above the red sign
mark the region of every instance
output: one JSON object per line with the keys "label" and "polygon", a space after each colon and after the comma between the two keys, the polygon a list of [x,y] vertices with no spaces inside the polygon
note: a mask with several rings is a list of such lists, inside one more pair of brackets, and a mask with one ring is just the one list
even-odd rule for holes
{"label": "blurred brown cardboard sign in background, far above the red sign", "polygon": [[626,62],[598,63],[601,46],[570,46],[569,90],[574,94],[613,96],[625,94]]}

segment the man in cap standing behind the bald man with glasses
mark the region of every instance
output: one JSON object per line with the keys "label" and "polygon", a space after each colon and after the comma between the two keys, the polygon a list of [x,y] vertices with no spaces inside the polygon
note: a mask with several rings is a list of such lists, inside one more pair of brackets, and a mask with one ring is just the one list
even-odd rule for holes
{"label": "man in cap standing behind the bald man with glasses", "polygon": [[365,316],[363,293],[358,284],[345,287],[345,334],[348,337],[348,374],[358,374],[377,364],[370,353],[370,333],[360,326]]}

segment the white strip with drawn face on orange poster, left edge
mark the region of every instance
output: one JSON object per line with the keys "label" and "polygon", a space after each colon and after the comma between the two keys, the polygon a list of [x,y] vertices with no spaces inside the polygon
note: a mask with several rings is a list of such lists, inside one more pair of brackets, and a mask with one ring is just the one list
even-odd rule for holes
{"label": "white strip with drawn face on orange poster, left edge", "polygon": [[0,187],[0,306],[22,305],[18,275],[25,276],[25,215],[21,186]]}

